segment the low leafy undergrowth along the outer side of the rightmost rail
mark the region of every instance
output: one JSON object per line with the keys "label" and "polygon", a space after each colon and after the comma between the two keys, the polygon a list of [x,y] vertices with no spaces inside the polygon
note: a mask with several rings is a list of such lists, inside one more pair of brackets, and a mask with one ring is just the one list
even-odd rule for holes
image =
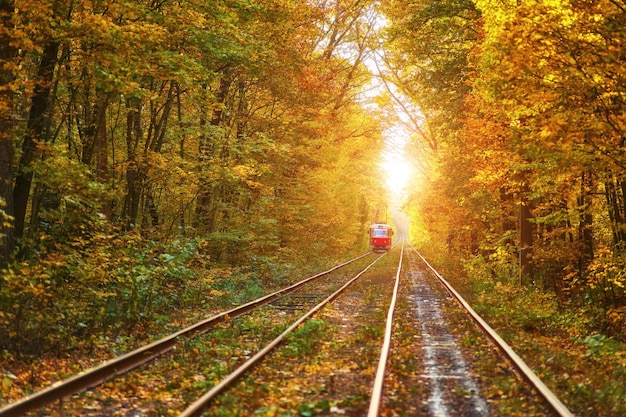
{"label": "low leafy undergrowth along the outer side of the rightmost rail", "polygon": [[480,258],[464,269],[453,285],[574,414],[626,415],[626,345],[603,333],[594,305],[521,286]]}

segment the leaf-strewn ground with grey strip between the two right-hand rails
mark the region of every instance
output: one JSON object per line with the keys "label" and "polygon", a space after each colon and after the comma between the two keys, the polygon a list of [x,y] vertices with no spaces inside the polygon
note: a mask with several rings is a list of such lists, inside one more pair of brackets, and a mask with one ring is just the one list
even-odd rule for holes
{"label": "leaf-strewn ground with grey strip between the two right-hand rails", "polygon": [[401,294],[390,358],[390,378],[400,394],[390,395],[391,412],[385,415],[553,415],[457,300],[411,256]]}

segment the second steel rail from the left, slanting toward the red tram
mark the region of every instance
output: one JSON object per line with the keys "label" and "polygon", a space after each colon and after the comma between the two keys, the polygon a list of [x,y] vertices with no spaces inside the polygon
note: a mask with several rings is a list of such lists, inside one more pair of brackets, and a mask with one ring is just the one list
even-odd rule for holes
{"label": "second steel rail from the left, slanting toward the red tram", "polygon": [[267,356],[267,354],[270,353],[270,351],[274,349],[276,346],[278,346],[289,333],[293,332],[299,325],[301,325],[306,320],[311,318],[313,314],[321,310],[324,306],[326,306],[326,304],[330,303],[331,301],[339,297],[339,295],[341,295],[341,293],[343,293],[350,285],[352,285],[354,281],[359,279],[368,269],[370,269],[376,262],[378,262],[386,254],[387,253],[385,252],[384,254],[376,258],[374,262],[369,264],[367,267],[365,267],[365,269],[363,269],[361,272],[359,272],[357,275],[355,275],[353,278],[347,281],[337,291],[329,295],[327,298],[322,300],[319,304],[317,304],[311,310],[303,314],[298,320],[293,322],[293,324],[291,324],[278,337],[276,337],[274,340],[272,340],[267,345],[265,345],[265,347],[259,350],[254,356],[252,356],[245,363],[243,363],[238,368],[236,368],[229,375],[224,377],[224,379],[222,379],[219,383],[214,385],[213,388],[207,391],[202,397],[200,397],[194,403],[189,405],[181,414],[178,415],[178,417],[192,417],[192,416],[199,416],[200,414],[202,414],[204,408],[206,408],[206,406],[211,402],[213,398],[215,398],[218,394],[223,392],[226,388],[230,386],[230,384],[237,381],[248,369],[256,365],[259,361],[261,361],[261,359]]}

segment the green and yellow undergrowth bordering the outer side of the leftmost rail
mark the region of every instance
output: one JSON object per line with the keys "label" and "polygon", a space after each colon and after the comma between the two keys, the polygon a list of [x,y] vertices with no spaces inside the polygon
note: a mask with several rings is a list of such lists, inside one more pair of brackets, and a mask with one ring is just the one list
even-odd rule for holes
{"label": "green and yellow undergrowth bordering the outer side of the leftmost rail", "polygon": [[96,224],[68,245],[33,244],[0,271],[0,401],[81,371],[72,358],[93,366],[258,298],[294,268],[224,266],[202,239],[112,232]]}

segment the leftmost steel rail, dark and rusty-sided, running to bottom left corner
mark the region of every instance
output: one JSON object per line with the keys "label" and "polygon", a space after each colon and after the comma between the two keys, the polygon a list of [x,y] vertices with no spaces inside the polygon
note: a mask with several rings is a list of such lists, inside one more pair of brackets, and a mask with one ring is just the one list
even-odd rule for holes
{"label": "leftmost steel rail, dark and rusty-sided, running to bottom left corner", "polygon": [[255,308],[264,306],[272,301],[275,301],[279,297],[295,291],[296,289],[302,287],[308,282],[320,278],[324,275],[328,275],[331,272],[347,266],[369,254],[371,254],[371,252],[367,252],[354,259],[336,265],[327,271],[320,272],[311,277],[305,278],[289,287],[283,288],[271,294],[267,294],[241,306],[234,307],[228,311],[218,313],[192,326],[179,330],[176,333],[172,333],[171,335],[166,336],[160,340],[154,341],[129,353],[113,358],[94,368],[87,369],[66,380],[56,382],[49,387],[42,389],[41,391],[38,391],[34,394],[22,398],[19,401],[0,408],[0,417],[21,416],[30,410],[44,407],[56,400],[66,398],[70,395],[100,385],[134,368],[137,368],[160,355],[169,352],[170,350],[174,349],[177,343],[183,338],[189,339],[192,336],[198,336],[206,333],[211,327],[214,327],[215,325],[223,321],[241,316],[254,310]]}

